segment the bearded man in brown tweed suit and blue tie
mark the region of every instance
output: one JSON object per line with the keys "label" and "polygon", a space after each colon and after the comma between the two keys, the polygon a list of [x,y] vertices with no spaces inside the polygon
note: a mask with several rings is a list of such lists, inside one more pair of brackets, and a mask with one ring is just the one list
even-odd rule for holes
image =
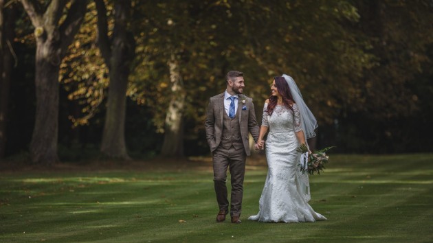
{"label": "bearded man in brown tweed suit and blue tie", "polygon": [[232,178],[230,216],[232,223],[240,223],[245,159],[249,152],[249,135],[258,139],[258,124],[252,99],[242,94],[243,73],[229,71],[225,76],[227,89],[210,98],[205,122],[206,139],[212,152],[214,187],[219,213],[216,222],[223,222],[228,213],[227,167]]}

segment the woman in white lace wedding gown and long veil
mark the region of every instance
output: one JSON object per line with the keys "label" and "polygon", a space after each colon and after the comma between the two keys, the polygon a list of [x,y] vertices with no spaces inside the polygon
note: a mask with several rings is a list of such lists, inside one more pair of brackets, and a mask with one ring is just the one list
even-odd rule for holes
{"label": "woman in white lace wedding gown and long veil", "polygon": [[275,77],[271,92],[271,97],[265,101],[258,137],[258,145],[263,145],[263,137],[269,128],[266,141],[269,169],[259,200],[259,211],[248,219],[259,222],[326,220],[308,204],[308,175],[300,172],[300,152],[296,151],[300,144],[307,144],[308,136],[315,135],[317,122],[291,77]]}

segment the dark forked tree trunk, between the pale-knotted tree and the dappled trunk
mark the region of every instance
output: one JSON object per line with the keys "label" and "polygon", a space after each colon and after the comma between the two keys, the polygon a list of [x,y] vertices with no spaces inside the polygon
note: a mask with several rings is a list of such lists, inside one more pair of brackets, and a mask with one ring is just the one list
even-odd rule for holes
{"label": "dark forked tree trunk, between the pale-knotted tree and the dappled trunk", "polygon": [[107,101],[107,114],[102,134],[101,152],[104,157],[130,159],[124,137],[126,115],[126,89],[131,61],[135,54],[135,40],[128,30],[131,21],[131,0],[114,2],[114,29],[111,49],[107,36],[107,23],[103,1],[96,1],[98,7],[98,36],[105,62],[109,66],[110,84]]}

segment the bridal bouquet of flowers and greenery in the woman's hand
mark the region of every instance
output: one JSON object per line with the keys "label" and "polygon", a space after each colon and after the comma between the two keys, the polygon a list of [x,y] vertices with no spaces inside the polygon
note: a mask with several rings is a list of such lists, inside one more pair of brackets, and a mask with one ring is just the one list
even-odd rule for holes
{"label": "bridal bouquet of flowers and greenery in the woman's hand", "polygon": [[301,152],[301,159],[299,161],[300,171],[302,173],[308,172],[311,176],[317,172],[323,171],[324,164],[328,163],[329,157],[326,155],[326,151],[334,148],[331,146],[322,150],[315,151],[309,154],[309,150],[305,144],[302,144],[296,151]]}

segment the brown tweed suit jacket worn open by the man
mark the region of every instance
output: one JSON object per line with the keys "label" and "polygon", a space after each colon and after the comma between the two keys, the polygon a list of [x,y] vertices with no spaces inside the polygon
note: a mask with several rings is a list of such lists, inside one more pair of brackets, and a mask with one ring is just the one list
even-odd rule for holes
{"label": "brown tweed suit jacket worn open by the man", "polygon": [[[256,121],[256,112],[254,111],[252,99],[245,95],[238,95],[238,97],[237,113],[239,126],[241,127],[242,143],[245,153],[249,155],[251,152],[249,151],[248,132],[254,137],[254,141],[257,141],[260,129]],[[243,100],[245,100],[245,104],[243,104]],[[208,140],[210,152],[214,152],[221,143],[224,112],[224,93],[211,97],[205,121],[206,139]]]}

